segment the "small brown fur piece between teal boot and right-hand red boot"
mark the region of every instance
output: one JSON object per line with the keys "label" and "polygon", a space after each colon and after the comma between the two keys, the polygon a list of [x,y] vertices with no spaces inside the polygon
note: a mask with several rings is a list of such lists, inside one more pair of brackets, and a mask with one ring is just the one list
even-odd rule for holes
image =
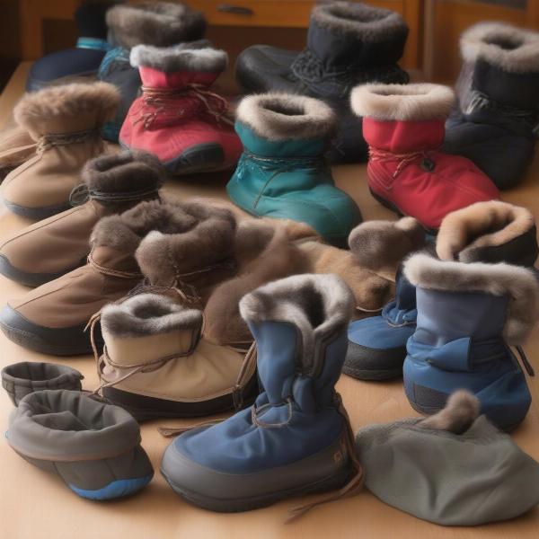
{"label": "small brown fur piece between teal boot and right-hand red boot", "polygon": [[425,230],[413,217],[366,221],[349,234],[349,248],[358,264],[392,280],[402,259],[424,245]]}

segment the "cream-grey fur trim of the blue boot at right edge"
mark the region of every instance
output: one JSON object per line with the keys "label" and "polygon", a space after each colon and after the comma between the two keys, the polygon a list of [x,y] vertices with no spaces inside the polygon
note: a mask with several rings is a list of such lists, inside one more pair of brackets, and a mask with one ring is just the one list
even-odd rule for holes
{"label": "cream-grey fur trim of the blue boot at right edge", "polygon": [[509,345],[524,342],[539,318],[539,284],[531,270],[505,263],[438,261],[421,253],[404,262],[404,275],[416,287],[508,296],[503,332]]}

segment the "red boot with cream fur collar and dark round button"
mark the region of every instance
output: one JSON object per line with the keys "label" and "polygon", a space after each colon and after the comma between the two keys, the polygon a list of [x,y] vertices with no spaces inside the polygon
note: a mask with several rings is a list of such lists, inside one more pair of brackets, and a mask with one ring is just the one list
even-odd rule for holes
{"label": "red boot with cream fur collar and dark round button", "polygon": [[369,146],[368,185],[384,206],[429,230],[455,209],[499,198],[471,161],[438,151],[455,94],[437,84],[366,84],[351,103]]}

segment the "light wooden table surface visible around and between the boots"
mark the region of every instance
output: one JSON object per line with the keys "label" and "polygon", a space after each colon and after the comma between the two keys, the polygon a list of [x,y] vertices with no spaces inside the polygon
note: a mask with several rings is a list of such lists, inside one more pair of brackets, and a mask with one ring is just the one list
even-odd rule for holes
{"label": "light wooden table surface visible around and between the boots", "polygon": [[[13,104],[22,95],[29,69],[23,63],[0,97],[0,128],[11,120]],[[340,188],[358,202],[368,219],[395,216],[372,199],[367,190],[365,165],[334,167]],[[169,181],[165,190],[179,198],[191,195],[225,199],[225,181]],[[503,199],[531,208],[539,219],[539,158],[535,159],[526,181],[504,193]],[[24,219],[0,209],[0,238],[26,225]],[[0,276],[0,306],[21,296],[25,287]],[[526,345],[528,358],[539,371],[539,331]],[[90,357],[54,358],[22,349],[0,333],[2,367],[16,361],[53,361],[65,363],[84,374],[84,387],[93,389],[97,376]],[[514,439],[527,453],[539,460],[539,376],[528,378],[533,395],[525,422],[515,431]],[[402,381],[390,383],[359,382],[341,376],[338,390],[354,430],[369,423],[380,423],[417,415],[411,410],[402,390]],[[0,396],[0,429],[6,429],[12,403],[6,393]],[[399,539],[537,539],[539,508],[516,520],[490,526],[450,528],[435,526],[384,505],[367,490],[353,498],[341,499],[315,508],[291,524],[284,524],[287,510],[298,505],[297,499],[283,501],[270,508],[223,515],[194,508],[178,498],[160,476],[159,464],[170,440],[161,437],[160,425],[178,426],[182,420],[152,421],[142,426],[142,440],[155,467],[155,478],[146,490],[129,499],[93,502],[77,497],[59,478],[42,472],[0,442],[0,537],[4,539],[169,539],[169,538],[267,538],[293,537],[398,537]],[[314,499],[314,498],[312,498]],[[303,501],[303,500],[302,500]]]}

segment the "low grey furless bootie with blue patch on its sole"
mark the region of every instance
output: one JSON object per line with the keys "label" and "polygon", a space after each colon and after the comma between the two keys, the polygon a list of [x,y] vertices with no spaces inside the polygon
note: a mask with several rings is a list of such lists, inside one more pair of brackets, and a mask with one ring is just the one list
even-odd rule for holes
{"label": "low grey furless bootie with blue patch on its sole", "polygon": [[83,498],[128,496],[154,476],[137,421],[119,406],[77,391],[26,395],[9,418],[5,437],[25,461],[56,473]]}

